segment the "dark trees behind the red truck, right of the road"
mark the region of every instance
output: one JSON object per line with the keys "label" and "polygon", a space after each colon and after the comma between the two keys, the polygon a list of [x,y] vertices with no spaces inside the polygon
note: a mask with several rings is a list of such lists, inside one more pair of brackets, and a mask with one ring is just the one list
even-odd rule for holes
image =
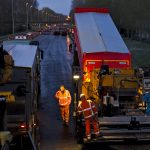
{"label": "dark trees behind the red truck, right of the road", "polygon": [[124,37],[150,41],[150,0],[73,0],[71,16],[76,7],[109,8]]}

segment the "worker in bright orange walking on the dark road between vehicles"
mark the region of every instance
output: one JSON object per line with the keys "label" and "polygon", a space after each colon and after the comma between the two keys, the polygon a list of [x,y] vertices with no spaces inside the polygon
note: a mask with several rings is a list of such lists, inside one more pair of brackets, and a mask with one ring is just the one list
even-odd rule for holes
{"label": "worker in bright orange walking on the dark road between vehicles", "polygon": [[68,90],[65,89],[64,85],[60,86],[60,90],[55,94],[58,100],[60,113],[63,120],[63,125],[68,126],[69,124],[69,106],[71,104],[71,95]]}

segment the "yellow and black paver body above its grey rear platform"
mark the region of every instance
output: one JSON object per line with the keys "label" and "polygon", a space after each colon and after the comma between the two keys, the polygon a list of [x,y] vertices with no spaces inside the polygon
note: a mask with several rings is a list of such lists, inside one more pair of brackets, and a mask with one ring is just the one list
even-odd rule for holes
{"label": "yellow and black paver body above its grey rear platform", "polygon": [[105,65],[101,69],[93,69],[90,82],[82,83],[82,92],[97,103],[100,116],[144,115],[146,106],[140,90],[143,73],[134,69],[112,69]]}

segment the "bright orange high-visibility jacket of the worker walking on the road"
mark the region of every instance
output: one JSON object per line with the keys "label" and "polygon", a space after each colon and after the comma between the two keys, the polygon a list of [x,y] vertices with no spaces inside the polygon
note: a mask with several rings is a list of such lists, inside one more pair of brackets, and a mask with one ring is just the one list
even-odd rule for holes
{"label": "bright orange high-visibility jacket of the worker walking on the road", "polygon": [[60,106],[70,105],[71,95],[68,90],[65,90],[64,93],[62,93],[61,91],[57,91],[55,96],[59,100]]}

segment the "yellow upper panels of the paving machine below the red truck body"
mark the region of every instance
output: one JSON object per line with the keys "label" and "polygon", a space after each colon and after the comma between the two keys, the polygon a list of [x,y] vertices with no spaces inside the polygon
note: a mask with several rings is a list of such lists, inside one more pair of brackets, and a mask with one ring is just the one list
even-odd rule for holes
{"label": "yellow upper panels of the paving machine below the red truck body", "polygon": [[[108,92],[116,94],[133,94],[139,87],[139,79],[133,69],[109,69],[106,74],[101,74],[100,69],[94,69],[91,72],[90,82],[84,82],[82,92],[87,97],[93,97],[96,102],[101,99],[100,95],[106,95]],[[127,96],[127,95],[124,95]]]}

